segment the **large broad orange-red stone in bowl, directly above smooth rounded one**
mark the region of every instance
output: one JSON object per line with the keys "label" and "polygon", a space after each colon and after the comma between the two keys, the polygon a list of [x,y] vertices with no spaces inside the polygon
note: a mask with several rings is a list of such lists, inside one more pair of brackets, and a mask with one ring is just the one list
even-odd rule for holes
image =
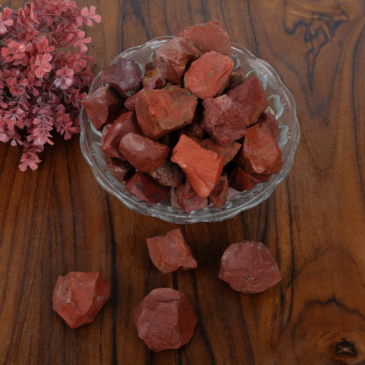
{"label": "large broad orange-red stone in bowl, directly above smooth rounded one", "polygon": [[140,90],[136,103],[143,134],[159,138],[192,122],[197,98],[188,90],[166,86],[162,90]]}

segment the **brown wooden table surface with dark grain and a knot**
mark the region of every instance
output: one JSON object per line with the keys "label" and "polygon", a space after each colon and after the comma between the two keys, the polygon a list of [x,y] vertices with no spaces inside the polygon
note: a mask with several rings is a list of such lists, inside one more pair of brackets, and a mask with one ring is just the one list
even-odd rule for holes
{"label": "brown wooden table surface with dark grain and a knot", "polygon": [[[25,1],[5,0],[19,8]],[[79,137],[56,137],[37,171],[0,143],[1,364],[365,364],[365,5],[349,1],[78,0],[95,73],[123,49],[219,19],[270,63],[297,102],[301,141],[286,180],[261,205],[220,223],[177,225],[127,209],[95,181]],[[146,238],[181,228],[196,270],[164,275]],[[244,295],[218,279],[221,255],[258,240],[282,281]],[[52,310],[58,275],[97,271],[112,294],[93,323]],[[149,351],[133,311],[179,288],[198,316],[179,350]]]}

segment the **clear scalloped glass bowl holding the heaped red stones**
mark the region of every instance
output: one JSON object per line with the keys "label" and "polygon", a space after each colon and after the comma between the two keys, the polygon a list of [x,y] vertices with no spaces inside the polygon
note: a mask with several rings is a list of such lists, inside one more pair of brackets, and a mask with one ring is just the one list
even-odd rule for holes
{"label": "clear scalloped glass bowl holding the heaped red stones", "polygon": [[[144,45],[127,49],[118,55],[112,63],[116,62],[120,57],[128,58],[138,62],[143,70],[143,65],[153,59],[156,49],[164,45],[171,38],[173,37],[164,36],[155,38]],[[273,175],[269,181],[257,184],[254,188],[231,197],[221,209],[216,208],[211,203],[203,209],[185,212],[182,209],[172,207],[169,200],[155,205],[146,203],[127,192],[124,189],[124,183],[112,177],[108,166],[104,162],[103,151],[101,150],[101,132],[95,129],[94,125],[88,120],[84,108],[81,108],[81,151],[88,164],[90,164],[95,179],[97,179],[106,191],[114,194],[131,210],[141,214],[155,216],[164,221],[180,224],[224,221],[268,199],[277,184],[286,178],[290,168],[292,168],[294,152],[297,149],[300,136],[297,108],[291,92],[281,82],[274,68],[267,62],[256,58],[247,49],[234,43],[231,45],[230,56],[236,66],[242,66],[247,71],[247,75],[251,75],[252,73],[257,74],[257,77],[259,77],[266,90],[269,105],[273,108],[279,123],[278,142],[283,158],[281,171]],[[92,82],[89,95],[98,88],[99,75]]]}

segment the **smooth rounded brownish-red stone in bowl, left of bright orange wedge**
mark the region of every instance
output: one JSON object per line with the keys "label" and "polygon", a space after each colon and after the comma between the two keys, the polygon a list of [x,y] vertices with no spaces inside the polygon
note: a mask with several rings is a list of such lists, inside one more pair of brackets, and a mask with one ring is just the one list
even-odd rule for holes
{"label": "smooth rounded brownish-red stone in bowl, left of bright orange wedge", "polygon": [[127,133],[121,138],[119,150],[127,161],[142,173],[161,166],[170,151],[165,144],[135,132]]}

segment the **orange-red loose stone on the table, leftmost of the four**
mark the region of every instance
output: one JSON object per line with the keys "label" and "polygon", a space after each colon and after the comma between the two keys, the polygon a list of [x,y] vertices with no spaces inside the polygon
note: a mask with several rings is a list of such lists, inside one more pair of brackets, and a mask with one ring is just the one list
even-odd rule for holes
{"label": "orange-red loose stone on the table, leftmost of the four", "polygon": [[73,271],[59,276],[53,291],[53,310],[71,327],[92,322],[110,296],[110,283],[99,273]]}

